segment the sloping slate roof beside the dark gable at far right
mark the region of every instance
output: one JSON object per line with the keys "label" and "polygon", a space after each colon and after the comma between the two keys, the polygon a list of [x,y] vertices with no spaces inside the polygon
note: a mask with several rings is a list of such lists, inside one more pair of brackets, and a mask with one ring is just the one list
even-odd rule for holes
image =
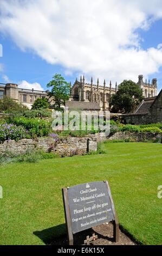
{"label": "sloping slate roof beside the dark gable at far right", "polygon": [[156,97],[149,97],[142,100],[142,102],[137,107],[137,109],[135,109],[134,114],[148,114],[149,113],[148,108],[151,107],[155,99]]}

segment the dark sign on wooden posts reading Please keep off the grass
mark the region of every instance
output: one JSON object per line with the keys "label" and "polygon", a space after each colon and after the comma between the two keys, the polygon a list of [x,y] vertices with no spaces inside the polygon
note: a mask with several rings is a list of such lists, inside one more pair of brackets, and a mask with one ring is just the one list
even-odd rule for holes
{"label": "dark sign on wooden posts reading Please keep off the grass", "polygon": [[107,181],[62,188],[69,245],[73,234],[105,222],[113,222],[114,240],[119,240],[119,223]]}

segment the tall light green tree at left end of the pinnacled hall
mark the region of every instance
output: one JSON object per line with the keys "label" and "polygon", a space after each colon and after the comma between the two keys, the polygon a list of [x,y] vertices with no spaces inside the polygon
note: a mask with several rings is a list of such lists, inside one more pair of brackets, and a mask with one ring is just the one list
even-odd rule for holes
{"label": "tall light green tree at left end of the pinnacled hall", "polygon": [[70,95],[70,84],[65,81],[64,77],[60,74],[55,74],[53,76],[47,87],[51,87],[51,91],[48,92],[50,102],[53,102],[51,107],[55,109],[60,109],[62,105],[69,99]]}

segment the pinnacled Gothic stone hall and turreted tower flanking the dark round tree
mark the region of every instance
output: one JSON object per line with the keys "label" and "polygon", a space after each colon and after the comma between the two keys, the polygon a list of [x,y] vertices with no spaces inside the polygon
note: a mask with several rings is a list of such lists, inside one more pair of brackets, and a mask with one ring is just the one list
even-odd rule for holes
{"label": "pinnacled Gothic stone hall and turreted tower flanking the dark round tree", "polygon": [[[157,79],[153,78],[152,83],[150,81],[143,82],[143,76],[139,75],[138,85],[143,91],[144,97],[157,96]],[[101,110],[105,111],[109,109],[109,100],[111,95],[115,94],[118,91],[117,83],[115,86],[112,86],[110,81],[109,87],[106,86],[104,80],[103,86],[99,83],[99,78],[97,84],[93,83],[93,78],[91,83],[85,83],[85,77],[80,78],[80,82],[76,81],[73,87],[70,90],[70,99],[69,101],[83,101],[83,102],[97,102]]]}

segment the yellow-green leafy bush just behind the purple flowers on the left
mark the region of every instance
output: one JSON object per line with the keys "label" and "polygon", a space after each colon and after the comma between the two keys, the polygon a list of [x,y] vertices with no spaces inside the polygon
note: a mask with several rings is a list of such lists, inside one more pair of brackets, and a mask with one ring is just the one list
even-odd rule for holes
{"label": "yellow-green leafy bush just behind the purple flowers on the left", "polygon": [[13,121],[17,126],[22,125],[25,127],[32,138],[36,136],[47,136],[51,127],[51,123],[49,121],[40,118],[17,117],[14,118]]}

